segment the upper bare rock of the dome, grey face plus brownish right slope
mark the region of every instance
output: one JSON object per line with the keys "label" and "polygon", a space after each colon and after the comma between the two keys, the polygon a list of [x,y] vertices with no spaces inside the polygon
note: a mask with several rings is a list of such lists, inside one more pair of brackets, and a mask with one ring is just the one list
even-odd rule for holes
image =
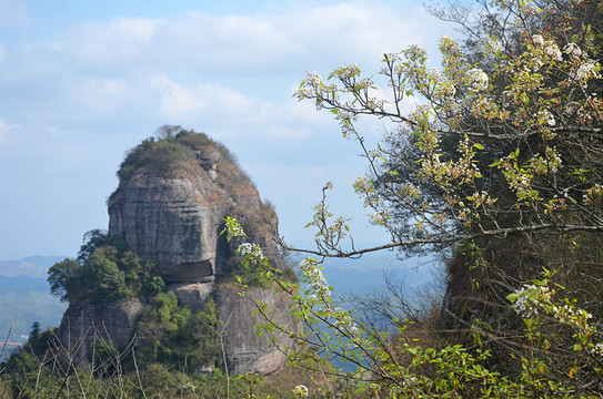
{"label": "upper bare rock of the dome, grey face plus brownish right slope", "polygon": [[109,234],[123,233],[130,248],[154,260],[169,284],[205,283],[228,273],[232,250],[220,237],[227,216],[253,219],[248,234],[279,262],[275,214],[249,178],[211,147],[188,155],[194,162],[169,176],[135,173],[122,180],[109,204]]}

